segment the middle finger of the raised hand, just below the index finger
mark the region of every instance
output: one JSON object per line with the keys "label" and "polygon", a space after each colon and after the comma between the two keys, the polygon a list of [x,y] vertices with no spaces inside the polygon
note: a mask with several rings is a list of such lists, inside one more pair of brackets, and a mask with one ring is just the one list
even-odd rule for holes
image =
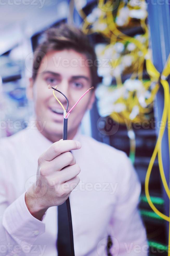
{"label": "middle finger of the raised hand, just below the index finger", "polygon": [[46,161],[41,169],[40,174],[50,175],[54,172],[61,171],[68,165],[75,165],[76,159],[71,152],[64,152],[61,155],[54,158],[52,161]]}

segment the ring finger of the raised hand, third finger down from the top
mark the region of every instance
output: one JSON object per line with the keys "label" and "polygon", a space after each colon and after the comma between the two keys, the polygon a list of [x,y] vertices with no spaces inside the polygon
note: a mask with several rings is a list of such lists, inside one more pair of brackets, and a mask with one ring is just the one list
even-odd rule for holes
{"label": "ring finger of the raised hand, third finger down from the top", "polygon": [[75,164],[65,167],[60,172],[54,172],[47,176],[47,180],[50,184],[62,184],[70,179],[73,179],[80,173],[80,166]]}

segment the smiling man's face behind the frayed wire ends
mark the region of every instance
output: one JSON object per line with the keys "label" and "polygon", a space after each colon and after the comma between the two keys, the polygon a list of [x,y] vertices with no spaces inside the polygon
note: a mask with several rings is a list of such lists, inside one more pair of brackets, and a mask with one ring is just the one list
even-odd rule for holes
{"label": "smiling man's face behind the frayed wire ends", "polygon": [[[75,62],[70,65],[70,61],[73,59]],[[67,96],[68,111],[81,95],[93,86],[90,68],[82,65],[80,59],[86,60],[87,58],[74,50],[49,52],[42,59],[35,81],[30,80],[29,97],[31,95],[34,100],[37,120],[41,124],[46,123],[42,132],[44,134],[62,136],[63,132],[63,110],[53,96],[53,89],[48,89],[49,84],[53,87],[58,85],[57,89]],[[65,97],[56,91],[55,94],[66,109]],[[91,108],[93,101],[94,92],[90,91],[72,110],[68,117],[68,133],[74,133],[86,110]]]}

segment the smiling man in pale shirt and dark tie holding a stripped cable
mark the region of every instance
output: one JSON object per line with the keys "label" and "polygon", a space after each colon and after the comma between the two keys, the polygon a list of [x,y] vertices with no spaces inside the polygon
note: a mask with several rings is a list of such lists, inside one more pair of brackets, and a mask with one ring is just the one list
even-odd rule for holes
{"label": "smiling man in pale shirt and dark tie holding a stripped cable", "polygon": [[95,59],[87,37],[67,25],[48,30],[35,51],[28,87],[35,126],[1,139],[0,255],[57,255],[57,206],[68,196],[76,256],[107,255],[108,235],[113,255],[147,254],[132,164],[125,153],[80,134],[94,91],[70,113],[63,141],[63,110],[48,89],[58,85],[70,109],[96,85]]}

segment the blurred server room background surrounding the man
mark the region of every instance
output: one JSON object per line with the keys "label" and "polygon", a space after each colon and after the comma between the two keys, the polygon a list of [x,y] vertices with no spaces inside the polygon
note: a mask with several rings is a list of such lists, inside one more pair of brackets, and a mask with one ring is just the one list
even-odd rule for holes
{"label": "blurred server room background surrounding the man", "polygon": [[[26,98],[33,51],[42,33],[61,22],[80,27],[94,44],[100,83],[82,133],[123,150],[141,181],[140,213],[149,255],[167,255],[169,223],[152,211],[145,177],[164,109],[164,90],[151,60],[162,72],[170,52],[169,2],[164,0],[4,0],[0,3],[0,137],[28,125],[33,112]],[[162,139],[162,162],[169,187],[168,129]],[[156,208],[169,216],[156,158],[149,181]]]}

